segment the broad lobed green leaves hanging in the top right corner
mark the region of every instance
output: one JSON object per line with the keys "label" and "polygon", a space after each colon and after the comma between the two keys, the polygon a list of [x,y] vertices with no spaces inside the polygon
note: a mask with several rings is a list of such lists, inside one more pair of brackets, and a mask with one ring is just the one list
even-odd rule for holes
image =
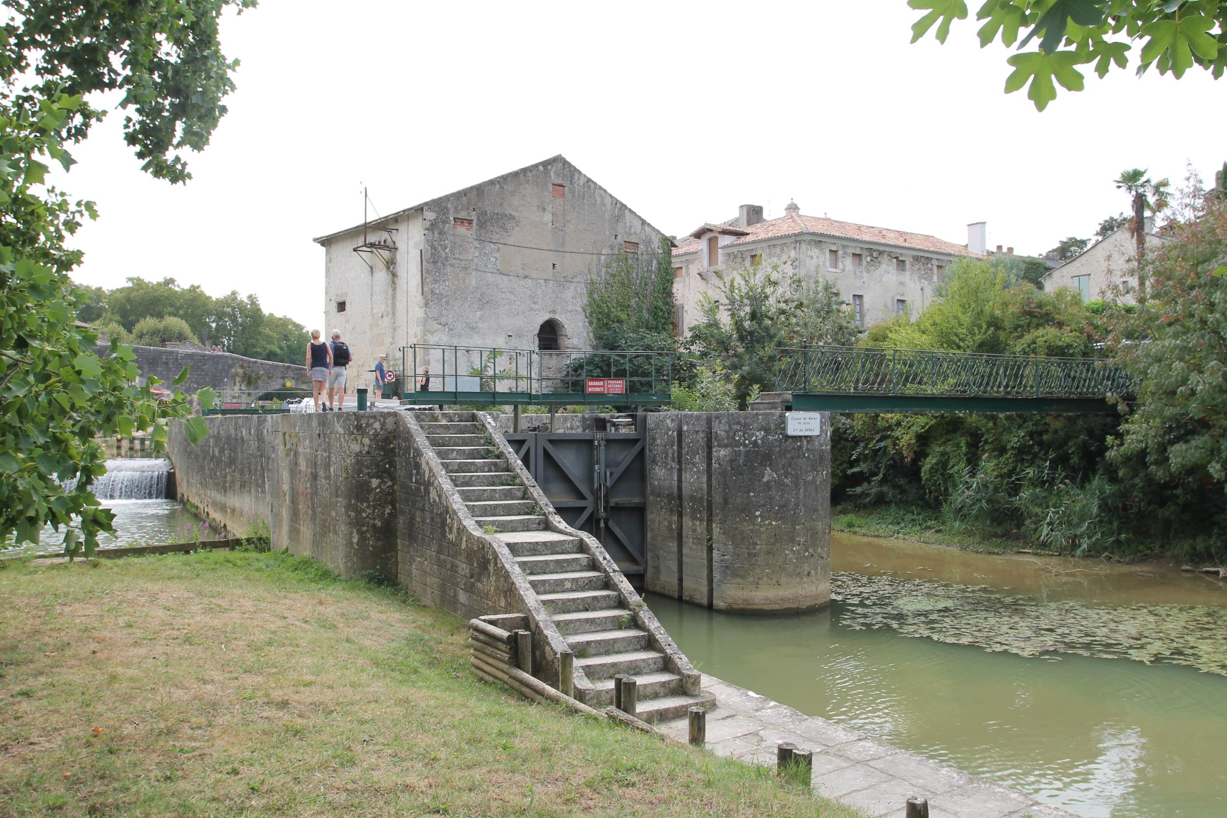
{"label": "broad lobed green leaves hanging in the top right corner", "polygon": [[[945,43],[951,25],[968,16],[960,0],[908,5],[926,12],[912,26],[913,43],[935,25],[934,36]],[[984,21],[980,48],[999,40],[1023,49],[1038,40],[1036,50],[1006,60],[1014,72],[1005,85],[1006,93],[1029,85],[1027,98],[1037,110],[1056,98],[1058,85],[1082,91],[1079,66],[1093,66],[1103,78],[1126,67],[1131,54],[1139,74],[1153,66],[1179,78],[1196,66],[1217,80],[1227,69],[1227,4],[1218,0],[987,0],[975,18]]]}

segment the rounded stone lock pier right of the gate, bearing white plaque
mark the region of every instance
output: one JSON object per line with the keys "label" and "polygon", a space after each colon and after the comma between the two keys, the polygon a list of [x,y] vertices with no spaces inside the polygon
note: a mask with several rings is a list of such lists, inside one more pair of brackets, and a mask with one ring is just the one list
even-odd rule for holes
{"label": "rounded stone lock pier right of the gate, bearing white plaque", "polygon": [[831,601],[831,432],[777,412],[648,416],[649,591],[728,611]]}

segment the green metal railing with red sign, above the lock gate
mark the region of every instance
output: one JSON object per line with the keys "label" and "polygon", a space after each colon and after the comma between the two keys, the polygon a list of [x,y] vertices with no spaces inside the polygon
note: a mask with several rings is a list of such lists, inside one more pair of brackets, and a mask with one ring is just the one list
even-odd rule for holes
{"label": "green metal railing with red sign, above the lock gate", "polygon": [[654,406],[671,400],[674,353],[413,343],[401,370],[401,397],[423,405]]}

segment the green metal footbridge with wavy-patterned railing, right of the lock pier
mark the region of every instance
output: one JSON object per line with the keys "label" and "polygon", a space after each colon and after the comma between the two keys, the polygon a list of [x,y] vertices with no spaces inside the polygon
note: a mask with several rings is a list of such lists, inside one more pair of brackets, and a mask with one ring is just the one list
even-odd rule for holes
{"label": "green metal footbridge with wavy-patterned railing, right of the lock pier", "polygon": [[1112,361],[815,346],[779,351],[775,394],[799,411],[1114,413],[1136,380]]}

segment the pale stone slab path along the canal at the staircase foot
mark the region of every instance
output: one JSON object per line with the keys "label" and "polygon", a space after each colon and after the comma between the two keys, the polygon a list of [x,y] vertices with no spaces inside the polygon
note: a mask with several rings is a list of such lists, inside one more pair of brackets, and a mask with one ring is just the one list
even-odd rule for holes
{"label": "pale stone slab path along the canal at the staircase foot", "polygon": [[[706,673],[703,689],[717,699],[717,708],[707,715],[708,749],[774,766],[777,744],[793,742],[814,752],[811,785],[816,792],[867,816],[902,816],[908,797],[918,796],[929,800],[929,818],[1076,818],[1022,792],[807,716]],[[686,719],[656,727],[686,741]]]}

